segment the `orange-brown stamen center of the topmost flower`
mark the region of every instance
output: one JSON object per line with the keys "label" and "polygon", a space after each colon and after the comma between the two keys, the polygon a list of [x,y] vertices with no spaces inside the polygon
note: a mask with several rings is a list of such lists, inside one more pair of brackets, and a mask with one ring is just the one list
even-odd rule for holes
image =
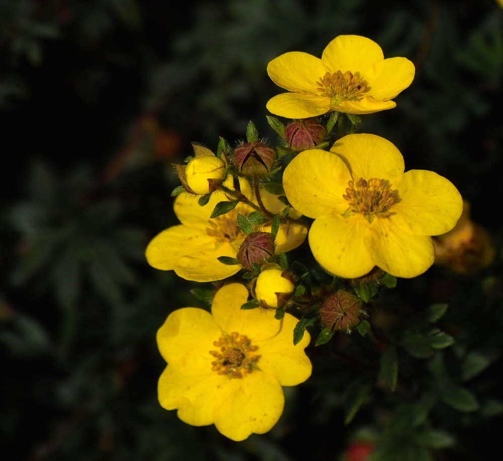
{"label": "orange-brown stamen center of the topmost flower", "polygon": [[316,84],[321,96],[330,98],[332,106],[338,106],[343,101],[361,101],[367,90],[367,82],[349,70],[344,73],[340,70],[332,74],[326,72]]}

